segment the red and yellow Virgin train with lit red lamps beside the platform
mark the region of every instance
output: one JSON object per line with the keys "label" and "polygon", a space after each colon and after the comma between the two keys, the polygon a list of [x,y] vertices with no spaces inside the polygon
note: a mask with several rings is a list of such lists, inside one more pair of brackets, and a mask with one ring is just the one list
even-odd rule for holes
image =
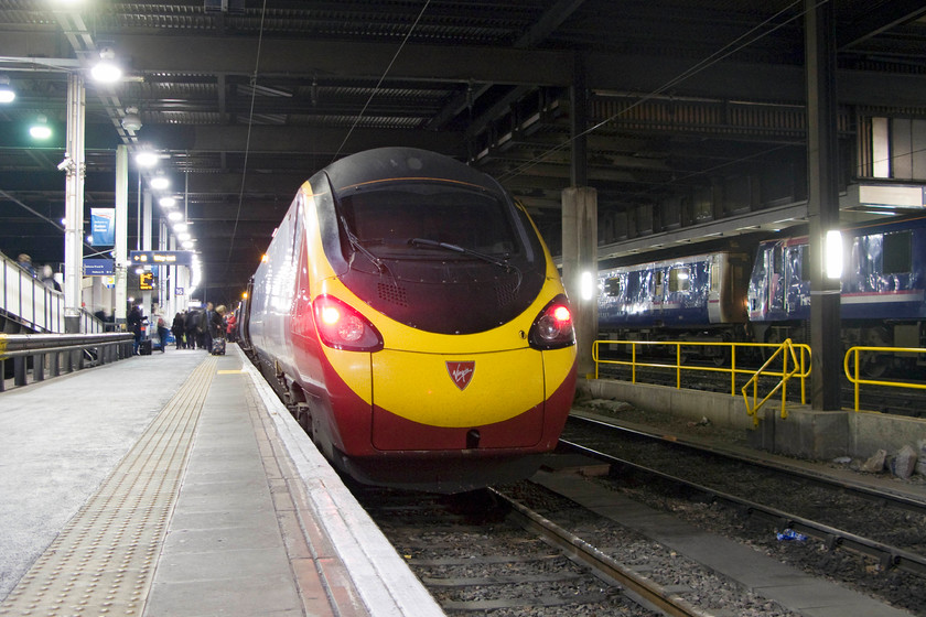
{"label": "red and yellow Virgin train with lit red lamps beside the platform", "polygon": [[525,477],[575,387],[569,302],[525,209],[410,148],[346,156],[302,185],[241,334],[320,450],[366,484]]}

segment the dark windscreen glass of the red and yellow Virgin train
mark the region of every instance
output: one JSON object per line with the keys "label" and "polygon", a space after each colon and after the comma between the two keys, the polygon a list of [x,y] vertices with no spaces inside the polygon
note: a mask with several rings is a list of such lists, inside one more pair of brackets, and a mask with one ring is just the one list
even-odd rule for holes
{"label": "dark windscreen glass of the red and yellow Virgin train", "polygon": [[421,243],[412,248],[412,239],[497,257],[520,252],[506,204],[489,193],[461,190],[459,185],[390,183],[342,196],[340,209],[357,241],[379,257],[397,257],[410,250],[420,255],[422,247],[424,252],[429,250]]}

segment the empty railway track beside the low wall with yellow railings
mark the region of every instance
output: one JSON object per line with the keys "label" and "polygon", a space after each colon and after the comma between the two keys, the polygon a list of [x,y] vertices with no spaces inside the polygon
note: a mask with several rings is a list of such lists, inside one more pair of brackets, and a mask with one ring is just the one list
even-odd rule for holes
{"label": "empty railway track beside the low wall with yellow railings", "polygon": [[[661,486],[664,495],[729,506],[731,527],[792,530],[801,541],[790,543],[789,559],[799,561],[795,549],[799,545],[812,553],[808,563],[826,561],[821,555],[827,553],[857,553],[862,560],[857,570],[869,576],[866,580],[864,573],[854,573],[851,584],[872,588],[883,583],[884,593],[892,600],[897,596],[890,588],[896,587],[898,581],[908,588],[923,587],[924,500],[575,416],[570,418],[563,441],[573,452],[606,462],[612,466],[612,476],[621,478],[622,484],[646,485],[647,491]],[[754,522],[744,523],[745,519]],[[768,537],[767,529],[761,533]],[[746,541],[762,543],[754,538]],[[769,544],[769,551],[778,548],[772,542],[765,545]],[[836,561],[832,556],[827,559]],[[916,605],[917,600],[913,602]],[[918,603],[920,607],[926,605],[923,598]]]}

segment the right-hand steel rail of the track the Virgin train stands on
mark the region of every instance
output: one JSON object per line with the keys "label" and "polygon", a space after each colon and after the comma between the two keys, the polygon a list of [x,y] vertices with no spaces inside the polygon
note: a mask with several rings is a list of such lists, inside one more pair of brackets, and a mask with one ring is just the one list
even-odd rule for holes
{"label": "right-hand steel rail of the track the Virgin train stands on", "polygon": [[709,617],[709,613],[691,605],[680,596],[667,592],[649,578],[640,576],[551,520],[538,515],[495,488],[489,488],[488,490],[508,505],[512,513],[521,527],[540,534],[545,541],[563,551],[573,561],[580,561],[591,567],[600,577],[613,581],[617,585],[625,587],[632,594],[657,607],[666,615],[674,617]]}

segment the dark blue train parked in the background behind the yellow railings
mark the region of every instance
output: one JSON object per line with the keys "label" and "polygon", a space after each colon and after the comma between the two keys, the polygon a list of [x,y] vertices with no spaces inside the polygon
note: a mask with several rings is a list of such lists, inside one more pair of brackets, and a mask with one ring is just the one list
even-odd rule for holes
{"label": "dark blue train parked in the background behind the yellow railings", "polygon": [[[846,346],[923,346],[926,217],[849,227],[843,247]],[[635,337],[807,343],[808,259],[807,236],[795,236],[764,240],[754,256],[721,251],[603,270],[599,323]],[[879,375],[893,361],[871,355],[864,370]]]}

